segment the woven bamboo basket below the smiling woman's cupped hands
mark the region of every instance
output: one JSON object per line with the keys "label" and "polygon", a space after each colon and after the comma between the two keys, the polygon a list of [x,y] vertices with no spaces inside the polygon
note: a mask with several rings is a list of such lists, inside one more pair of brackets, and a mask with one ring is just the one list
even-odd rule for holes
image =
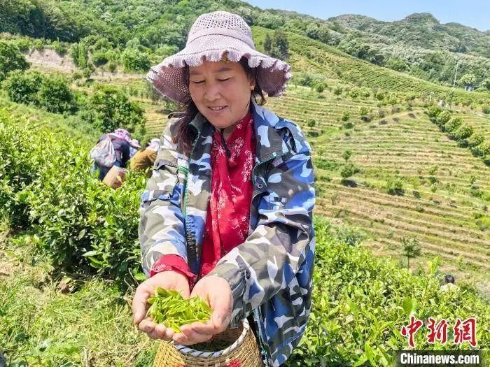
{"label": "woven bamboo basket below the smiling woman's cupped hands", "polygon": [[237,329],[227,329],[215,337],[235,343],[218,352],[202,352],[186,345],[162,340],[153,367],[262,367],[257,340],[248,320]]}

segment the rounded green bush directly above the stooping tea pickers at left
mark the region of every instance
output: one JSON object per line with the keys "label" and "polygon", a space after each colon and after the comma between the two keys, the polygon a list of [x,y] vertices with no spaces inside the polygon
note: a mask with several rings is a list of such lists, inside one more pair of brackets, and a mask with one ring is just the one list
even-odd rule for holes
{"label": "rounded green bush directly above the stooping tea pickers at left", "polygon": [[[144,110],[118,89],[97,85],[87,103],[84,119],[104,132],[123,127],[130,132],[144,129]],[[140,131],[141,133],[141,131]]]}

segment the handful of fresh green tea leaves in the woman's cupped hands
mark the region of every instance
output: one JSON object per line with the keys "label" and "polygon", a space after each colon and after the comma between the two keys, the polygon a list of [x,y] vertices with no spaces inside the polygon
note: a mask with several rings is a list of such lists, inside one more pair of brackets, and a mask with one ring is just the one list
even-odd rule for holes
{"label": "handful of fresh green tea leaves in the woman's cupped hands", "polygon": [[213,313],[206,301],[199,296],[186,299],[175,289],[158,287],[148,303],[151,307],[147,315],[153,322],[164,324],[176,333],[181,331],[182,325],[207,322]]}

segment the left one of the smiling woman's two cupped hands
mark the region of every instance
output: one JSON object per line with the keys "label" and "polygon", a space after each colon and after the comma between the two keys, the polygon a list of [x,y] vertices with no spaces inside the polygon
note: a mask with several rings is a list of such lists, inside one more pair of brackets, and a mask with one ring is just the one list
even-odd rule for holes
{"label": "left one of the smiling woman's two cupped hands", "polygon": [[189,298],[189,282],[186,275],[177,271],[162,271],[137,287],[132,303],[133,321],[152,339],[172,340],[174,331],[171,328],[166,328],[163,324],[155,324],[150,317],[146,317],[146,311],[150,308],[148,298],[155,294],[155,289],[158,287],[176,289],[183,298]]}

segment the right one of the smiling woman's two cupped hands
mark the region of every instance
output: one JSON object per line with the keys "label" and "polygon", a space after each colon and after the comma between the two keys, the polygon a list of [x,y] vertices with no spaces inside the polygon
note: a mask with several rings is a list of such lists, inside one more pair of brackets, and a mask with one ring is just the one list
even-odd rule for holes
{"label": "right one of the smiling woman's two cupped hands", "polygon": [[232,318],[232,289],[223,278],[216,275],[202,278],[196,283],[190,296],[200,296],[207,301],[213,314],[205,323],[193,322],[181,326],[181,333],[174,334],[173,339],[182,345],[202,343],[211,339],[214,335],[225,331]]}

